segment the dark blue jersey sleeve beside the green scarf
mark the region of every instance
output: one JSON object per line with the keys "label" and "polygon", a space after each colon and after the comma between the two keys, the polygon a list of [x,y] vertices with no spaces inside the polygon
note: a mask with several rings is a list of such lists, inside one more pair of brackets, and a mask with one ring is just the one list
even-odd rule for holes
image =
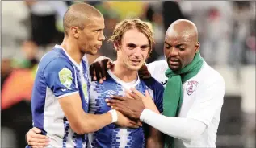
{"label": "dark blue jersey sleeve beside the green scarf", "polygon": [[149,94],[151,97],[153,97],[153,101],[155,105],[157,106],[157,109],[160,113],[163,112],[163,93],[164,93],[164,87],[162,84],[157,82],[153,77],[150,77],[149,79],[144,80],[146,86],[149,88]]}

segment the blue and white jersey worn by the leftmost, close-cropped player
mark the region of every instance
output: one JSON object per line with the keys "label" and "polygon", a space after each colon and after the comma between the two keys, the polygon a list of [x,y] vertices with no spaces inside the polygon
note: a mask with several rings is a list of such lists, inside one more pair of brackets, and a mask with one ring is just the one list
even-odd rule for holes
{"label": "blue and white jersey worn by the leftmost, close-cropped player", "polygon": [[31,97],[33,126],[50,138],[48,147],[86,147],[87,135],[78,135],[69,126],[58,99],[79,93],[88,113],[90,78],[84,56],[77,64],[56,45],[40,60]]}

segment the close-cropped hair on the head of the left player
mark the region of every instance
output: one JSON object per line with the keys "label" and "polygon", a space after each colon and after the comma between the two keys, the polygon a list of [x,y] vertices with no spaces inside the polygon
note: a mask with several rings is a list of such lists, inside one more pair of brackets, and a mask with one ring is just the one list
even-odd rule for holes
{"label": "close-cropped hair on the head of the left player", "polygon": [[101,18],[103,14],[94,6],[90,6],[86,3],[77,3],[69,6],[69,9],[65,12],[63,19],[63,26],[65,35],[68,35],[69,28],[74,26],[83,30],[86,27],[86,23],[90,23],[94,18]]}

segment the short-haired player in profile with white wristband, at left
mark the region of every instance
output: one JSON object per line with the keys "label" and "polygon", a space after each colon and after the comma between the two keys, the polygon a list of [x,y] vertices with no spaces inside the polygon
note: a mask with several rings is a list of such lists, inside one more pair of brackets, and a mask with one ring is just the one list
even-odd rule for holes
{"label": "short-haired player in profile with white wristband, at left", "polygon": [[[88,133],[115,122],[134,126],[115,110],[101,115],[88,113],[90,78],[85,54],[94,55],[102,46],[103,15],[85,3],[69,7],[64,16],[65,38],[40,60],[31,97],[33,126],[43,135],[39,143],[49,147],[86,147]],[[41,138],[41,139],[40,139]]]}

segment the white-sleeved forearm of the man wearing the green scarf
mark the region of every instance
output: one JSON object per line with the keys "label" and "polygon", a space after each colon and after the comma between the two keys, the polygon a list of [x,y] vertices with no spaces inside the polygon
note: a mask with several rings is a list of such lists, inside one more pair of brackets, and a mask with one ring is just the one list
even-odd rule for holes
{"label": "white-sleeved forearm of the man wearing the green scarf", "polygon": [[184,141],[191,141],[203,134],[206,125],[195,119],[182,117],[166,117],[145,109],[141,113],[141,121],[151,125],[162,133]]}

